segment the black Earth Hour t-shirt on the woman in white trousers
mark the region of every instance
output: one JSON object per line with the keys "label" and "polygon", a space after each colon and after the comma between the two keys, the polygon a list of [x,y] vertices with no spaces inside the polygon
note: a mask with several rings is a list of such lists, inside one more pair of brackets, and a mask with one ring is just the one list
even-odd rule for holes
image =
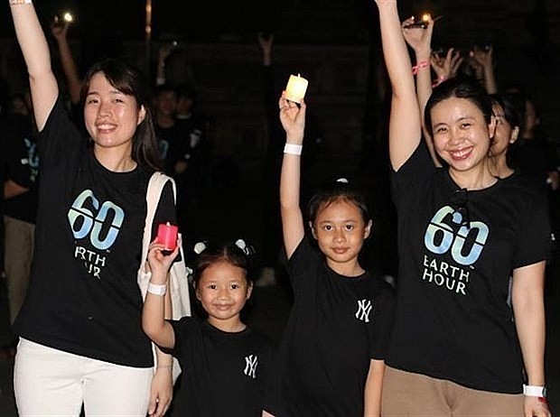
{"label": "black Earth Hour t-shirt on the woman in white trousers", "polygon": [[[108,171],[59,99],[39,140],[40,203],[23,338],[118,365],[153,366],[136,282],[151,172]],[[157,223],[174,223],[168,184]]]}

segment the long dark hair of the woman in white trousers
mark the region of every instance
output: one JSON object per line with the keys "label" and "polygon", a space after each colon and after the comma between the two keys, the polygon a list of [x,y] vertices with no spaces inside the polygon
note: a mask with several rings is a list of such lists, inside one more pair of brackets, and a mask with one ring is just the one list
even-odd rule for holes
{"label": "long dark hair of the woman in white trousers", "polygon": [[124,60],[106,59],[93,64],[81,88],[81,105],[85,104],[91,79],[102,72],[108,83],[126,96],[135,97],[138,108],[145,108],[145,118],[136,127],[133,137],[132,158],[147,170],[162,170],[162,162],[154,133],[154,119],[150,109],[150,96],[142,71]]}

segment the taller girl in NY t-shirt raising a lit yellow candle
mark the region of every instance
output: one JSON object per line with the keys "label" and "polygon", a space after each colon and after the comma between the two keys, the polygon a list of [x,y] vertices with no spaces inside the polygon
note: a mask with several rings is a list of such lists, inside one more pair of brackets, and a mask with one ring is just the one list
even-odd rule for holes
{"label": "taller girl in NY t-shirt raising a lit yellow candle", "polygon": [[280,203],[294,306],[267,385],[265,415],[376,416],[393,292],[359,264],[372,226],[365,199],[337,181],[313,195],[305,237],[300,154],[305,103],[279,100],[286,132]]}

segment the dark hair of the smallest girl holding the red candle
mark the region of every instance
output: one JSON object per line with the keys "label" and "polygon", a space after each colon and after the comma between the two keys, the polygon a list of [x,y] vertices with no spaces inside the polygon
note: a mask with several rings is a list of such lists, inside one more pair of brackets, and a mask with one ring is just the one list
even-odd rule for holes
{"label": "dark hair of the smallest girl holding the red candle", "polygon": [[239,246],[233,243],[227,244],[208,244],[206,248],[197,255],[192,265],[192,282],[198,283],[202,273],[212,264],[227,262],[245,271],[247,283],[252,283],[252,266],[249,256]]}

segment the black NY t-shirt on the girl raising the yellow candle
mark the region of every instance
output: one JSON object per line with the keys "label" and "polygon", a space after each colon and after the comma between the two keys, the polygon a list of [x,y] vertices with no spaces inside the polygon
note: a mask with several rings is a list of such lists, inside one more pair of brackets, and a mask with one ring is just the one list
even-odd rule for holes
{"label": "black NY t-shirt on the girl raising the yellow candle", "polygon": [[335,273],[323,257],[305,237],[288,262],[294,306],[266,390],[276,417],[363,415],[370,360],[386,355],[393,288]]}

